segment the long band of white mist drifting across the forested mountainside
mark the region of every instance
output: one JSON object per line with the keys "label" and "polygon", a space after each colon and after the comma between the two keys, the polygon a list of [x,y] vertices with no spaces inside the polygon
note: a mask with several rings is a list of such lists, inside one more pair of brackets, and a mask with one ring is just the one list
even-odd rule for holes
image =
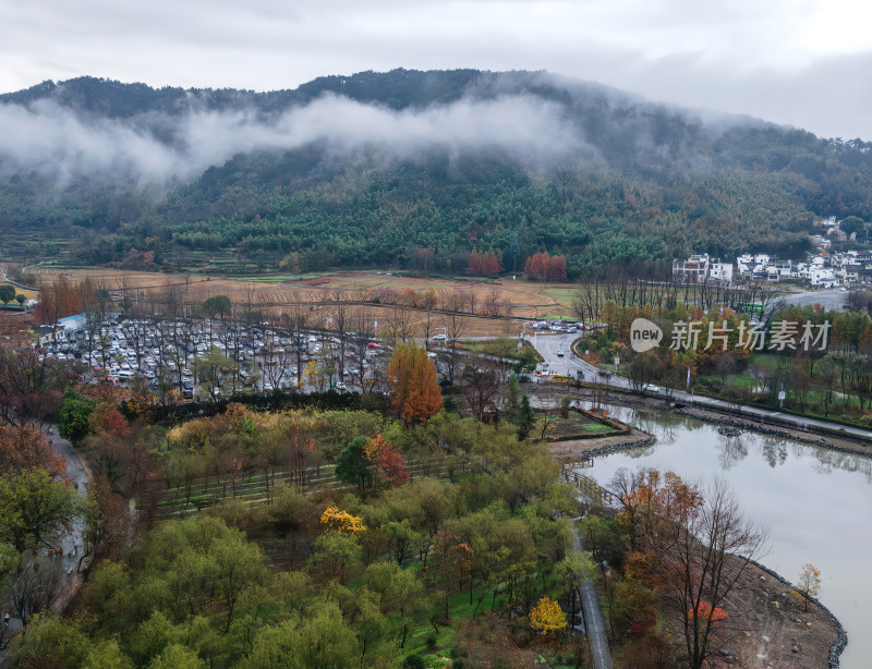
{"label": "long band of white mist drifting across the forested mountainside", "polygon": [[[65,182],[119,175],[142,185],[196,175],[238,153],[293,149],[322,142],[347,155],[374,148],[414,157],[439,148],[457,156],[496,150],[540,167],[584,150],[561,109],[530,96],[461,100],[425,110],[391,111],[325,96],[276,118],[254,111],[142,114],[129,121],[78,117],[55,102],[0,106],[0,173],[36,170]],[[160,139],[158,139],[160,137]]]}

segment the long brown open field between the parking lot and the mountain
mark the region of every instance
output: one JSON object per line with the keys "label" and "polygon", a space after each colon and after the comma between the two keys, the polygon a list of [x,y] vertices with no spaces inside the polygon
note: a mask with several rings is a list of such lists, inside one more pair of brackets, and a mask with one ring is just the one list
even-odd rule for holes
{"label": "long brown open field between the parking lot and the mountain", "polygon": [[[463,316],[461,320],[463,337],[517,336],[521,319],[542,318],[546,315],[566,315],[570,312],[572,285],[549,284],[526,280],[468,281],[396,277],[376,271],[330,272],[315,278],[292,280],[286,276],[270,278],[220,277],[182,273],[156,273],[146,271],[94,269],[35,268],[32,270],[40,281],[51,281],[60,276],[70,281],[82,281],[86,277],[104,285],[110,293],[128,293],[142,301],[159,301],[170,285],[184,295],[184,301],[198,303],[213,295],[227,295],[237,304],[252,303],[280,315],[282,311],[298,304],[308,304],[313,311],[327,309],[324,301],[360,302],[380,295],[382,302],[410,299],[410,294],[433,290],[440,304],[457,304],[461,311],[481,311],[485,305],[491,312],[498,312],[508,319]],[[549,293],[556,293],[557,300]],[[313,304],[314,303],[314,304]],[[459,305],[463,306],[459,306]],[[358,318],[360,309],[365,309],[366,318],[379,324],[397,318],[399,305],[352,307],[352,319]],[[421,330],[426,321],[426,313],[413,309],[410,316],[413,327]],[[443,326],[443,314],[431,315],[432,326]]]}

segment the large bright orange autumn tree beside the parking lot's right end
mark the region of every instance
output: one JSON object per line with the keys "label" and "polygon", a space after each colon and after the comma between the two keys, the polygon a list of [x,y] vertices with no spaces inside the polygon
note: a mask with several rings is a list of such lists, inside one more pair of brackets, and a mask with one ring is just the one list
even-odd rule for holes
{"label": "large bright orange autumn tree beside the parking lot's right end", "polygon": [[443,408],[436,367],[423,346],[398,344],[387,373],[395,414],[407,425],[426,422]]}

